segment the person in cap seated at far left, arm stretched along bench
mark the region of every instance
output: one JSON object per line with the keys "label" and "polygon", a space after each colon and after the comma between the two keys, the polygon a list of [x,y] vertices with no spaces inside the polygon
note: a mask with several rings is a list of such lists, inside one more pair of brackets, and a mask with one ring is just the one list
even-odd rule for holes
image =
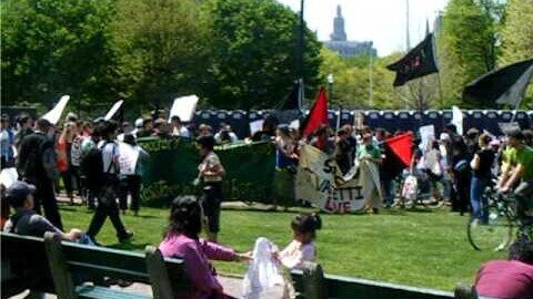
{"label": "person in cap seated at far left, arm stretched along bench", "polygon": [[26,182],[16,182],[6,190],[6,199],[13,208],[14,214],[3,227],[3,231],[18,235],[28,235],[42,238],[44,233],[57,233],[64,240],[78,241],[83,233],[73,228],[69,233],[52,225],[47,218],[33,210],[33,194],[36,187]]}

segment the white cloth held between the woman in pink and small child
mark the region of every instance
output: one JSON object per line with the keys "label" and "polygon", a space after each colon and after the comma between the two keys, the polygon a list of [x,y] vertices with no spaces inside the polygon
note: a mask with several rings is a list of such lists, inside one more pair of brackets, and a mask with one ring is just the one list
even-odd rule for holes
{"label": "white cloth held between the woman in pink and small child", "polygon": [[278,247],[266,238],[258,238],[253,248],[252,260],[242,281],[242,297],[245,299],[261,298],[261,292],[283,285],[280,264],[272,254]]}

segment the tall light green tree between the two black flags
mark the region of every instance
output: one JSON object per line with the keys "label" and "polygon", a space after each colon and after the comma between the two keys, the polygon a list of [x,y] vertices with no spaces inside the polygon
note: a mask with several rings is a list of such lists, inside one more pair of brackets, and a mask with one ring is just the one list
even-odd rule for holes
{"label": "tall light green tree between the two black flags", "polygon": [[[461,103],[464,86],[496,65],[502,9],[495,0],[451,0],[439,35],[439,60],[446,105]],[[463,107],[490,103],[461,103]]]}

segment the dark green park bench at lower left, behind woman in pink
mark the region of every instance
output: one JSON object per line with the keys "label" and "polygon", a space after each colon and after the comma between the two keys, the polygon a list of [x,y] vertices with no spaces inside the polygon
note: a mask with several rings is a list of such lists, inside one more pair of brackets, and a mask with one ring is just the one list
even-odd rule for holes
{"label": "dark green park bench at lower left, behind woman in pink", "polygon": [[[3,289],[11,295],[24,289],[56,293],[58,298],[174,298],[175,291],[189,287],[183,260],[164,258],[159,249],[148,246],[145,255],[125,250],[61,241],[59,235],[47,233],[44,239],[13,234],[1,234],[2,240],[2,298]],[[24,249],[29,248],[29,250]],[[4,251],[4,249],[8,249]],[[40,270],[42,283],[28,283],[28,278],[3,267],[21,258],[40,260],[32,269]],[[4,271],[10,279],[4,281]],[[111,289],[103,277],[149,283],[152,296]],[[53,279],[51,279],[53,278]],[[14,279],[27,281],[16,289]],[[81,280],[93,283],[80,283]]]}

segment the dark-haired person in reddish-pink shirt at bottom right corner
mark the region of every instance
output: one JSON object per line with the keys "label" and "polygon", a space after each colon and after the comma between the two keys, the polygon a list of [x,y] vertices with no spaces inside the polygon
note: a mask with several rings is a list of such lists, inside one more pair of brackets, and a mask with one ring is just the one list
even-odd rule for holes
{"label": "dark-haired person in reddish-pink shirt at bottom right corner", "polygon": [[480,297],[533,299],[533,243],[519,238],[509,249],[509,260],[481,266],[474,289]]}

